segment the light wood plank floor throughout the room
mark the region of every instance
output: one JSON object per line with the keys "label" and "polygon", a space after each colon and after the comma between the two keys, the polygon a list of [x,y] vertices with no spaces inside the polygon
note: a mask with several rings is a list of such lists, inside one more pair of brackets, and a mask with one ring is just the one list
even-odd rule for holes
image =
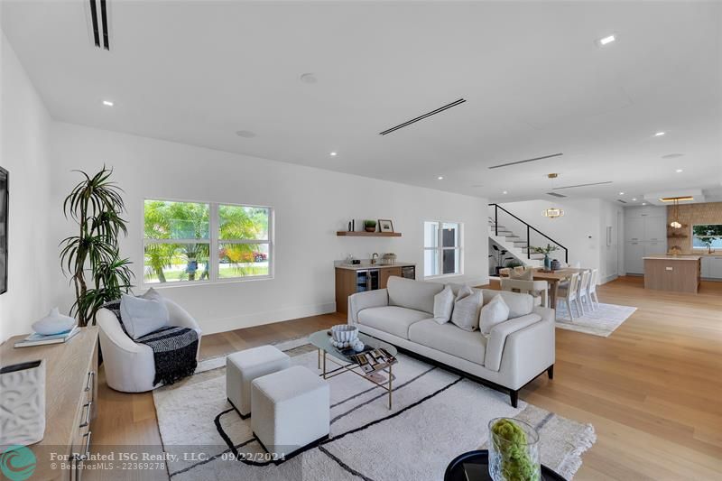
{"label": "light wood plank floor throughout the room", "polygon": [[[625,277],[598,293],[638,310],[609,338],[557,329],[554,380],[540,376],[520,397],[594,425],[597,443],[575,479],[722,479],[722,282],[703,282],[692,295],[644,290],[641,278]],[[201,356],[339,322],[328,314],[210,335]],[[116,393],[102,370],[100,381],[94,444],[160,446],[153,396]]]}

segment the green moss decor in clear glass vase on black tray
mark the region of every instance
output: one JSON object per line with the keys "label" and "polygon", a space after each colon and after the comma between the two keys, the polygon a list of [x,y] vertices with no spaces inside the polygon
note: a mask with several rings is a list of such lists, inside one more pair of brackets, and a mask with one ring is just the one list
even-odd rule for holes
{"label": "green moss decor in clear glass vase on black tray", "polygon": [[495,481],[539,481],[539,435],[510,418],[489,421],[489,475]]}

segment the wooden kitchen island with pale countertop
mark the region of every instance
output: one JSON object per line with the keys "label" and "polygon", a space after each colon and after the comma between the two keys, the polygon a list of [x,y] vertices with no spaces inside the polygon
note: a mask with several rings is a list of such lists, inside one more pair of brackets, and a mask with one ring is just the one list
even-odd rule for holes
{"label": "wooden kitchen island with pale countertop", "polygon": [[699,255],[651,255],[643,259],[644,289],[695,294],[699,290]]}

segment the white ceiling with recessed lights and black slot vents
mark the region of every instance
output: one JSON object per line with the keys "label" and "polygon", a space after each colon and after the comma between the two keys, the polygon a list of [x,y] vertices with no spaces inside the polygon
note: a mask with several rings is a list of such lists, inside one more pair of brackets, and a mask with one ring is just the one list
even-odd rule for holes
{"label": "white ceiling with recessed lights and black slot vents", "polygon": [[[495,200],[543,196],[552,171],[557,187],[614,182],[572,197],[722,193],[717,2],[111,6],[106,52],[82,2],[3,2],[57,120]],[[564,155],[488,170],[551,153]]]}

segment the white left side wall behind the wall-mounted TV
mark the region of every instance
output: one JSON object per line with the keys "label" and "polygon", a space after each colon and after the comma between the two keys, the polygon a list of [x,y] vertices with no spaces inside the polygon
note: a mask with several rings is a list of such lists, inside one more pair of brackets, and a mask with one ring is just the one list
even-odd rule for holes
{"label": "white left side wall behind the wall-mounted TV", "polygon": [[0,166],[9,171],[8,290],[0,295],[0,341],[29,332],[50,310],[49,276],[59,269],[48,236],[51,117],[2,37]]}

